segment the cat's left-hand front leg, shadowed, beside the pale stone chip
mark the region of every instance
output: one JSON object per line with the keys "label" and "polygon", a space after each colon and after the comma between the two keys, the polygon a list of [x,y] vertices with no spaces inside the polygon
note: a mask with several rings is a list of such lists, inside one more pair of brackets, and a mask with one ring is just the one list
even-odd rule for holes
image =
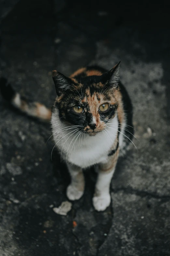
{"label": "cat's left-hand front leg, shadowed, beside the pale stone chip", "polygon": [[84,193],[84,175],[80,167],[73,164],[67,164],[71,176],[71,183],[67,187],[66,195],[70,200],[78,200]]}

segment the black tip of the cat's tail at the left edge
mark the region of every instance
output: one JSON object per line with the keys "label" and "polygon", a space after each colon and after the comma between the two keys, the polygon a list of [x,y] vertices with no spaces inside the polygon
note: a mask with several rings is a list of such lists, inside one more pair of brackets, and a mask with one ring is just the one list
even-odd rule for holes
{"label": "black tip of the cat's tail at the left edge", "polygon": [[5,77],[0,78],[0,92],[2,97],[7,101],[11,101],[16,94],[11,85],[7,83]]}

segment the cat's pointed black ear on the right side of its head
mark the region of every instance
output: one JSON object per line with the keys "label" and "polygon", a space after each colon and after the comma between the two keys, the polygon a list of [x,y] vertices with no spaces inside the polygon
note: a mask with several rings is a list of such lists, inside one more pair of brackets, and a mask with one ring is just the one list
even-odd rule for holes
{"label": "cat's pointed black ear on the right side of its head", "polygon": [[[114,87],[118,88],[119,85],[119,67],[120,62],[116,64],[112,69],[110,69],[108,72],[103,74],[103,81],[107,87]],[[105,86],[105,87],[106,87]]]}

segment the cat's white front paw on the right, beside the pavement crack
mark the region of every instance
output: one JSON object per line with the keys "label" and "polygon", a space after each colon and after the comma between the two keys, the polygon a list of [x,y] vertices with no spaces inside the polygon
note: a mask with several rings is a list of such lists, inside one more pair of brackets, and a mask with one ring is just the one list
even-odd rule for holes
{"label": "cat's white front paw on the right, beside the pavement crack", "polygon": [[99,211],[104,211],[110,205],[110,194],[101,195],[101,196],[94,196],[93,197],[93,206],[94,208]]}

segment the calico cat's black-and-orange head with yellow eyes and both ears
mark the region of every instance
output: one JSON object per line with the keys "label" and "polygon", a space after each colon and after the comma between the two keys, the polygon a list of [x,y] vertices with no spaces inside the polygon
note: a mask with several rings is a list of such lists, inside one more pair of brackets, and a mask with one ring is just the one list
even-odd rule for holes
{"label": "calico cat's black-and-orange head with yellow eyes and both ears", "polygon": [[79,125],[91,136],[104,130],[118,109],[119,64],[103,75],[81,78],[68,78],[54,70],[54,108],[59,110],[60,120]]}

